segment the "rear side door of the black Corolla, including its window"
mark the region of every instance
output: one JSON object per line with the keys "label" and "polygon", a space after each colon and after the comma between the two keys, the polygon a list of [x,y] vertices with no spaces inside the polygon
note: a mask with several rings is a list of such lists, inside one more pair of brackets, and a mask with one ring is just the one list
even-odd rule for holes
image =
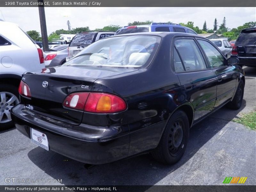
{"label": "rear side door of the black Corolla, including its window", "polygon": [[177,74],[186,100],[195,109],[194,122],[215,106],[217,77],[207,66],[194,37],[177,38],[173,43],[172,67]]}

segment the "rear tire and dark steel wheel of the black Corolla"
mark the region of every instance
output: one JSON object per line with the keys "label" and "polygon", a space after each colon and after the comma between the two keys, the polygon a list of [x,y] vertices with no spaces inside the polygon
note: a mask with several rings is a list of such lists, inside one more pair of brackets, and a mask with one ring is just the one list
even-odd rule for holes
{"label": "rear tire and dark steel wheel of the black Corolla", "polygon": [[184,111],[179,110],[169,119],[162,138],[151,155],[160,163],[174,164],[178,162],[187,147],[188,136],[188,117]]}

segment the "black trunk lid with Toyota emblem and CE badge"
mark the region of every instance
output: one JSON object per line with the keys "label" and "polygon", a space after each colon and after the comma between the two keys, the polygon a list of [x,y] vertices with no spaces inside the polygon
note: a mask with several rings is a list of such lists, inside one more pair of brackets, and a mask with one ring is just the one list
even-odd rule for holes
{"label": "black trunk lid with Toyota emblem and CE badge", "polygon": [[80,124],[83,111],[63,107],[65,98],[74,92],[90,92],[94,81],[98,78],[120,75],[134,70],[61,66],[43,69],[41,73],[28,72],[23,75],[22,81],[28,84],[31,99],[23,97],[23,101],[28,108],[43,113],[45,116]]}

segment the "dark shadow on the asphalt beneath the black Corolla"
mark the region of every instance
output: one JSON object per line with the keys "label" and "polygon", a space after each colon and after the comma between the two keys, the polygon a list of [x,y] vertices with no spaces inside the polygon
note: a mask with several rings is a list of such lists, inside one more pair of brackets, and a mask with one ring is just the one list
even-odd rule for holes
{"label": "dark shadow on the asphalt beneath the black Corolla", "polygon": [[146,154],[109,164],[95,165],[87,170],[81,162],[52,151],[47,152],[40,147],[29,151],[28,157],[52,178],[62,179],[64,185],[154,185],[183,166],[206,142],[228,124],[229,121],[225,119],[236,117],[245,107],[244,104],[246,104],[245,100],[242,107],[236,111],[225,107],[220,109],[222,112],[218,111],[218,113],[222,114],[221,119],[212,114],[196,124],[190,131],[184,156],[174,165],[159,164],[149,154]]}

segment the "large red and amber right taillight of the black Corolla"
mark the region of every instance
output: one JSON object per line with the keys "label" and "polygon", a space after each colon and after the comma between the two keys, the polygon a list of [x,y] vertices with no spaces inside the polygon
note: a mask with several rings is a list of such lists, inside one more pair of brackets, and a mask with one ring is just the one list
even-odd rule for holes
{"label": "large red and amber right taillight of the black Corolla", "polygon": [[63,106],[91,113],[116,113],[127,108],[125,101],[117,95],[86,92],[68,95]]}

